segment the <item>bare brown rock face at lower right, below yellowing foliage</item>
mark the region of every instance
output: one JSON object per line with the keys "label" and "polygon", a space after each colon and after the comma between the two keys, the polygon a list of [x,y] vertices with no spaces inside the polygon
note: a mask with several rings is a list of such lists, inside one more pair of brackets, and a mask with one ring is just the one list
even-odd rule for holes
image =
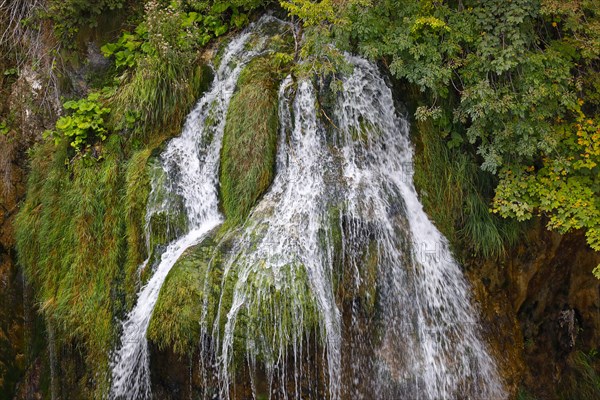
{"label": "bare brown rock face at lower right, below yellowing foliage", "polygon": [[[560,236],[538,221],[505,261],[470,266],[485,336],[513,393],[589,398],[586,385],[599,382],[600,281],[592,276],[599,263],[583,235]],[[582,368],[587,382],[574,387]]]}

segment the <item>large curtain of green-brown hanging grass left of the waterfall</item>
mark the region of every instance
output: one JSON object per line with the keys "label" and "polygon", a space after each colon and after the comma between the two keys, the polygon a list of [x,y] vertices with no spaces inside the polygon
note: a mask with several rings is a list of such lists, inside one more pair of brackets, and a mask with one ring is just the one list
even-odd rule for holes
{"label": "large curtain of green-brown hanging grass left of the waterfall", "polygon": [[151,149],[128,159],[123,141],[110,136],[100,161],[69,159],[66,141],[37,146],[16,221],[19,262],[56,337],[79,344],[93,397],[107,390],[115,317],[132,304],[146,251]]}

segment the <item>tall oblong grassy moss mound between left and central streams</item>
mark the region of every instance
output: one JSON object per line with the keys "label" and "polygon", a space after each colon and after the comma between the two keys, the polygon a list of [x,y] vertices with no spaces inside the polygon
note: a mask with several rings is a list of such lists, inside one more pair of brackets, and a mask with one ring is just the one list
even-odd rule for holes
{"label": "tall oblong grassy moss mound between left and central streams", "polygon": [[278,75],[270,57],[245,67],[231,99],[221,152],[221,198],[230,223],[241,222],[274,176]]}

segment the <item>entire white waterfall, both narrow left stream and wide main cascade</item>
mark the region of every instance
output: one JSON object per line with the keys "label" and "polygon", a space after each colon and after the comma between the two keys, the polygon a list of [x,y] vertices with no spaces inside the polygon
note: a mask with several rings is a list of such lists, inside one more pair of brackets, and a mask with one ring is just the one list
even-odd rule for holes
{"label": "entire white waterfall, both narrow left stream and wide main cascade", "polygon": [[[221,222],[225,115],[241,68],[264,50],[246,48],[253,30],[229,44],[212,89],[161,156],[189,232],[168,245],[123,323],[113,398],[150,397],[145,333],[160,287]],[[237,398],[247,378],[255,398],[503,399],[469,287],[413,186],[408,123],[377,67],[347,62],[353,72],[336,91],[281,84],[275,178],[206,272],[204,293],[214,271],[222,278],[198,316],[204,398]],[[149,212],[169,208],[159,203]]]}

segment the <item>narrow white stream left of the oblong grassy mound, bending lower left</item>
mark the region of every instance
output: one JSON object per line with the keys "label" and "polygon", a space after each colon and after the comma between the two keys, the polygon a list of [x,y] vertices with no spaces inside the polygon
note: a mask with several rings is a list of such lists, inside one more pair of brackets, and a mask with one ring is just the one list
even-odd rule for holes
{"label": "narrow white stream left of the oblong grassy mound, bending lower left", "polygon": [[[151,397],[146,341],[150,317],[160,288],[177,259],[222,222],[217,184],[225,116],[243,66],[260,54],[264,45],[264,41],[259,41],[252,50],[248,50],[247,42],[257,27],[272,20],[271,17],[263,17],[227,46],[211,89],[188,116],[181,136],[171,140],[160,157],[166,180],[152,182],[147,221],[153,214],[169,212],[173,208],[170,200],[179,198],[183,201],[188,232],[166,247],[152,278],[141,289],[135,307],[122,324],[121,347],[112,363],[111,398]],[[161,184],[165,187],[158,188],[157,185]],[[168,192],[168,195],[157,195],[161,191]],[[147,231],[148,225],[147,222]]]}

